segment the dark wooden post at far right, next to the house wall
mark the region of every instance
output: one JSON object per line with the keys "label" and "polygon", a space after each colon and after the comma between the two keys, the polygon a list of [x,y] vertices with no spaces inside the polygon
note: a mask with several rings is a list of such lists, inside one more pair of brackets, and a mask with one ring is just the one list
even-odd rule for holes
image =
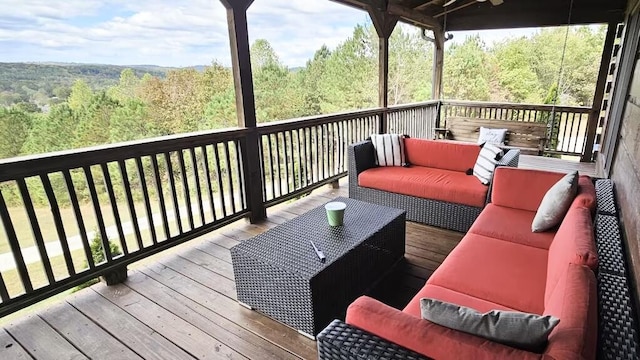
{"label": "dark wooden post at far right, next to the house wall", "polygon": [[587,138],[585,140],[584,148],[582,149],[582,156],[580,157],[581,162],[593,161],[593,143],[596,138],[596,131],[598,130],[598,120],[600,119],[600,112],[602,110],[602,99],[604,98],[605,86],[607,85],[609,64],[611,63],[611,55],[616,39],[617,26],[618,25],[615,23],[609,23],[607,28],[607,36],[604,40],[602,57],[600,59],[600,71],[598,72],[596,91],[593,95],[593,103],[591,105],[591,112],[589,113],[589,122],[587,123]]}

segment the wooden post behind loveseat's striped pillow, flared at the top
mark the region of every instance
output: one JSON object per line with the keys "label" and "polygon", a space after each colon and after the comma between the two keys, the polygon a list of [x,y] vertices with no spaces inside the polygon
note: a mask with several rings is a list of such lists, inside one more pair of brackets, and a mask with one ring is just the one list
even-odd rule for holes
{"label": "wooden post behind loveseat's striped pillow, flared at the top", "polygon": [[378,33],[378,106],[383,108],[378,132],[387,132],[389,105],[389,37],[398,23],[398,16],[389,14],[388,0],[372,0],[367,6],[371,22]]}

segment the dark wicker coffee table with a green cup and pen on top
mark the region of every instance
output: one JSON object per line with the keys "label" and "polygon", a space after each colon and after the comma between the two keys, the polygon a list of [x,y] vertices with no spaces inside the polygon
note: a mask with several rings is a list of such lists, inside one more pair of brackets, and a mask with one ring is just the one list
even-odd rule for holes
{"label": "dark wicker coffee table with a green cup and pen on top", "polygon": [[343,226],[320,206],[231,249],[238,301],[312,338],[404,256],[404,210],[334,201]]}

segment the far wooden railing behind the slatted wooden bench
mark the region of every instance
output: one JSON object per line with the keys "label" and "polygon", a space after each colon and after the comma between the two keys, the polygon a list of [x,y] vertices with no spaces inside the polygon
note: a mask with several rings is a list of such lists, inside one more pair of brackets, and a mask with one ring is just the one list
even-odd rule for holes
{"label": "far wooden railing behind the slatted wooden bench", "polygon": [[547,124],[545,154],[580,156],[585,151],[590,107],[443,101],[438,127],[450,116]]}

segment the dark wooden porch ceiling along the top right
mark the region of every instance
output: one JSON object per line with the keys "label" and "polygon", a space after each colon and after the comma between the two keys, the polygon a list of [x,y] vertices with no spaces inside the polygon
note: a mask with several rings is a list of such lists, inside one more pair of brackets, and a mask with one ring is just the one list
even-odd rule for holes
{"label": "dark wooden porch ceiling along the top right", "polygon": [[[366,10],[375,0],[332,0]],[[389,0],[389,13],[401,21],[424,28],[435,24],[447,31],[506,29],[566,25],[571,0],[504,0],[494,6],[490,1],[457,0],[444,8],[447,0]],[[574,0],[572,24],[622,22],[627,0]],[[435,24],[434,24],[435,19]]]}

